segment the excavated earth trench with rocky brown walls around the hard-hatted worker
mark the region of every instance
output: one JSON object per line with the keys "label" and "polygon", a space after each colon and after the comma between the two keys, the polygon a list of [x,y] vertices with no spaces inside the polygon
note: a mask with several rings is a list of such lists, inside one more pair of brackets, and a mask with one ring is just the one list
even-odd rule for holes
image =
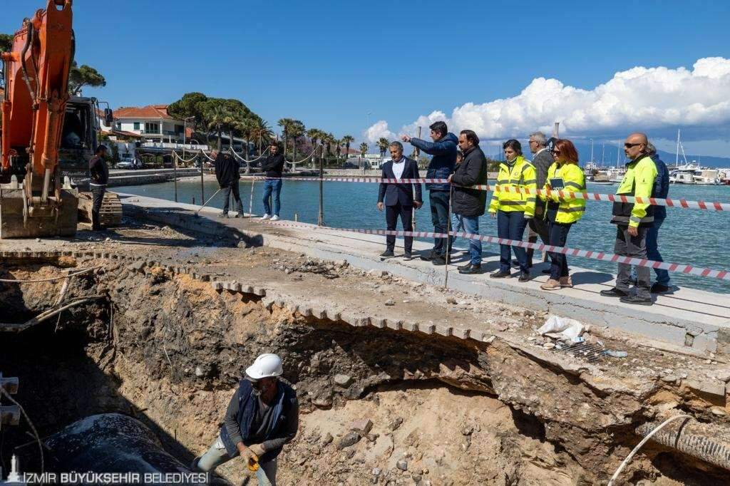
{"label": "excavated earth trench with rocky brown walls around the hard-hatted worker", "polygon": [[[280,457],[280,484],[605,484],[637,443],[634,428],[652,418],[634,397],[587,386],[499,342],[356,328],[163,267],[101,263],[71,279],[64,301],[103,298],[0,333],[0,371],[20,379],[16,399],[44,438],[92,415],[122,414],[144,423],[174,458],[162,468],[184,468],[215,438],[243,370],[261,352],[282,356],[302,411],[299,435]],[[4,261],[0,278],[57,277],[77,265]],[[0,323],[50,309],[63,287],[0,283]],[[372,428],[353,433],[356,420]],[[64,440],[47,441],[46,469],[94,471]],[[0,432],[5,471],[13,453],[39,470],[25,424]],[[236,482],[242,468],[234,460],[218,472]],[[724,484],[727,474],[649,443],[622,481]]]}

